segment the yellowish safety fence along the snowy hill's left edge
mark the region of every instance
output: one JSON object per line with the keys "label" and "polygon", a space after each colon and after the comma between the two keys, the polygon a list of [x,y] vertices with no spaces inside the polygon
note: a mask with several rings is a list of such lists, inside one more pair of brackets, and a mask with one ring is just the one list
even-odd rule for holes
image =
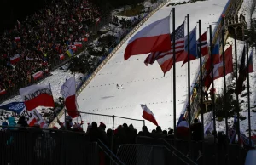
{"label": "yellowish safety fence along the snowy hill's left edge", "polygon": [[[90,68],[89,71],[87,71],[84,74],[84,77],[82,77],[82,83],[79,85],[79,89],[77,91],[77,96],[84,90],[84,88],[90,83],[90,81],[96,76],[96,74],[102,69],[104,65],[107,64],[108,60],[111,59],[113,54],[115,54],[119,48],[128,40],[129,37],[131,37],[132,34],[134,34],[137,29],[141,26],[143,26],[144,22],[148,20],[156,11],[158,11],[160,8],[162,8],[166,3],[168,3],[169,0],[160,0],[158,1],[159,5],[155,6],[154,8],[150,8],[151,12],[149,14],[146,14],[142,20],[139,21],[137,26],[128,28],[125,31],[125,37],[119,37],[112,46],[108,49],[108,53],[102,54],[102,57],[99,58],[98,61]],[[50,125],[55,125],[57,122],[57,118],[60,118],[64,114],[64,109],[61,110],[61,112],[55,117],[55,119],[50,123]]]}

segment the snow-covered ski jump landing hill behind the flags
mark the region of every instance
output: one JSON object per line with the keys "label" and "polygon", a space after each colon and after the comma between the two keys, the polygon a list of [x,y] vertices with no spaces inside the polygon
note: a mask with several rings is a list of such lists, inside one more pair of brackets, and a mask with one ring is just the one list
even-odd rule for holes
{"label": "snow-covered ski jump landing hill behind the flags", "polygon": [[[77,94],[77,102],[80,111],[114,115],[119,117],[130,117],[143,119],[143,110],[140,104],[145,104],[151,111],[159,125],[163,129],[173,128],[173,108],[172,108],[172,70],[163,73],[160,66],[144,65],[143,61],[147,57],[144,55],[132,56],[129,60],[124,60],[124,52],[129,39],[137,32],[170,14],[172,6],[167,7],[168,3],[178,3],[177,1],[166,1],[161,3],[157,9],[154,9],[146,16],[120,43],[113,49],[113,52],[102,62],[94,71],[92,76],[83,84]],[[183,1],[181,1],[183,2]],[[212,28],[219,25],[219,17],[223,11],[228,8],[232,0],[208,0],[196,3],[187,3],[177,5],[176,8],[176,26],[179,26],[185,19],[186,14],[190,14],[190,30],[197,25],[201,19],[202,32],[207,31],[207,27]],[[172,22],[172,20],[171,20]],[[197,34],[198,35],[198,34]],[[209,38],[209,37],[208,37]],[[147,46],[147,43],[145,43]],[[177,63],[176,81],[177,81],[177,117],[184,113],[184,105],[188,99],[188,68],[187,65],[181,67],[182,62]],[[199,60],[190,62],[191,84],[198,77]],[[193,81],[194,80],[194,81]],[[123,88],[117,88],[117,84]],[[58,115],[63,117],[64,111]],[[84,122],[104,122],[107,128],[112,128],[112,118],[82,114]],[[52,127],[56,122],[52,122]],[[126,122],[128,125],[133,123],[134,127],[141,130],[143,122],[125,121],[124,119],[115,119],[114,128]],[[151,122],[146,121],[148,129],[154,129]]]}

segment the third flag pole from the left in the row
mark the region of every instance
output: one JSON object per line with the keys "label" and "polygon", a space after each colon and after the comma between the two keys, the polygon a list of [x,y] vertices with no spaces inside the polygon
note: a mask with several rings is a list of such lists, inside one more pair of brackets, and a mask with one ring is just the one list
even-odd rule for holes
{"label": "third flag pole from the left in the row", "polygon": [[[199,61],[200,61],[200,108],[201,108],[201,140],[202,140],[202,153],[204,152],[204,112],[203,110],[203,73],[202,73],[202,61],[201,61],[201,20],[198,20],[199,26]],[[203,164],[205,164],[205,156],[203,156]]]}

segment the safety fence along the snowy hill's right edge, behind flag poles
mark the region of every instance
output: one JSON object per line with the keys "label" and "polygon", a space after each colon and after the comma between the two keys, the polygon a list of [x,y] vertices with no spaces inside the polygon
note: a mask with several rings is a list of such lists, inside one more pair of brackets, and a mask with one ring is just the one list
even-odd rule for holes
{"label": "safety fence along the snowy hill's right edge, behind flag poles", "polygon": [[[220,32],[222,30],[222,19],[224,16],[225,20],[229,20],[230,17],[233,17],[234,15],[238,14],[238,11],[241,7],[241,3],[242,0],[229,0],[228,3],[226,3],[224,10],[221,14],[221,16],[218,19],[218,24],[215,26],[213,32],[212,32],[212,45],[216,43],[218,37],[220,36]],[[225,36],[224,40],[226,40],[227,35]],[[203,63],[205,64],[205,62],[207,61],[207,59],[203,59]],[[203,75],[204,75],[204,69],[203,69]],[[193,119],[195,117],[197,117],[197,115],[199,114],[200,111],[200,97],[201,97],[201,84],[200,84],[200,67],[197,70],[197,76],[195,77],[193,83],[192,83],[192,88],[190,91],[190,95],[193,95],[193,88],[197,88],[197,94],[194,97],[193,101],[191,102],[190,105],[190,114],[191,114],[191,122],[193,121]],[[190,99],[190,98],[189,98]],[[183,111],[184,111],[184,116],[186,118],[188,118],[188,111],[187,111],[187,107],[188,107],[188,100],[187,103],[184,105],[183,107]],[[182,117],[182,116],[181,116]],[[179,121],[181,120],[181,117],[179,119]]]}

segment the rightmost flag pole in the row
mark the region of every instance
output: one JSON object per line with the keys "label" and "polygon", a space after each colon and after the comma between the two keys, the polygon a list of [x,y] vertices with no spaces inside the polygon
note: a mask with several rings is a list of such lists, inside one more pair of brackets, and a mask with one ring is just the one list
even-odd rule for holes
{"label": "rightmost flag pole in the row", "polygon": [[251,135],[251,107],[250,107],[250,77],[249,77],[249,44],[248,36],[246,36],[247,41],[247,104],[248,104],[248,129],[249,129],[249,145],[252,147],[252,135]]}

